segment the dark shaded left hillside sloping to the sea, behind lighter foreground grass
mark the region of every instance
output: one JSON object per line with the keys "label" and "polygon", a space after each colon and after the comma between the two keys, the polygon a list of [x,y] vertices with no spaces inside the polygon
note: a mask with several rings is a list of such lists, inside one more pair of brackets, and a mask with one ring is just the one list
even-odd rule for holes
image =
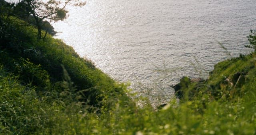
{"label": "dark shaded left hillside sloping to the sea, behind lighter foreground grass", "polygon": [[[2,8],[9,9],[6,6]],[[51,91],[54,83],[63,80],[63,65],[76,91],[84,91],[84,101],[90,105],[100,104],[106,93],[113,97],[124,95],[108,75],[92,62],[80,58],[72,47],[61,40],[50,35],[45,40],[37,40],[36,29],[15,16],[1,14],[0,20],[1,64],[18,76],[22,84],[36,86],[37,91]]]}

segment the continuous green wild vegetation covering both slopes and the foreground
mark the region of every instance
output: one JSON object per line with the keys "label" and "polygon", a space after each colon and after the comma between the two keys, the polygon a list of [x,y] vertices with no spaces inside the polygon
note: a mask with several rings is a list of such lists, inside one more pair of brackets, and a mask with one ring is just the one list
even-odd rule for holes
{"label": "continuous green wild vegetation covering both slopes and the foreground", "polygon": [[[2,13],[0,134],[256,134],[255,52],[216,64],[205,81],[184,77],[180,100],[154,109],[61,40],[38,40],[36,27]],[[248,39],[254,47],[256,34]]]}

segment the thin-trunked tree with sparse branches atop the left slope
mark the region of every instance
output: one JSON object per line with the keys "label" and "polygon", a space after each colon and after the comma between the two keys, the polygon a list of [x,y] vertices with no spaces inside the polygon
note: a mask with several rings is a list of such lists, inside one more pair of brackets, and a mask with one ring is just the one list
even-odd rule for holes
{"label": "thin-trunked tree with sparse branches atop the left slope", "polygon": [[[85,1],[80,0],[19,0],[16,7],[20,16],[32,16],[38,29],[38,39],[42,38],[42,27],[48,26],[47,22],[57,22],[67,17],[67,5],[84,6]],[[44,35],[44,38],[47,34]]]}

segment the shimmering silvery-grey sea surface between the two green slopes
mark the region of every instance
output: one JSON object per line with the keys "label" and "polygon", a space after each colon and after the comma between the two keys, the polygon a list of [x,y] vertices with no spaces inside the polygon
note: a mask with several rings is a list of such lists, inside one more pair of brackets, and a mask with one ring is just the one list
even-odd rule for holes
{"label": "shimmering silvery-grey sea surface between the two green slopes", "polygon": [[246,54],[255,0],[87,0],[68,7],[56,38],[152,102],[174,97],[183,76],[208,77],[214,64]]}

